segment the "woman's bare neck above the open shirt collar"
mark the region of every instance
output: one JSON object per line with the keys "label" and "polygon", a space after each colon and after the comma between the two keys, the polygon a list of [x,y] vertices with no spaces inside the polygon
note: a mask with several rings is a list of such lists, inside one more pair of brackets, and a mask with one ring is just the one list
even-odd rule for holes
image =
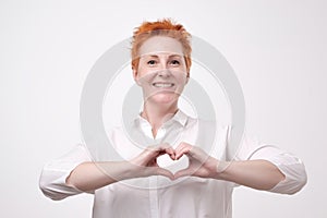
{"label": "woman's bare neck above the open shirt collar", "polygon": [[153,128],[153,135],[157,135],[157,130],[165,123],[167,120],[172,118],[178,111],[178,101],[172,104],[152,104],[146,101],[144,104],[144,110],[141,113]]}

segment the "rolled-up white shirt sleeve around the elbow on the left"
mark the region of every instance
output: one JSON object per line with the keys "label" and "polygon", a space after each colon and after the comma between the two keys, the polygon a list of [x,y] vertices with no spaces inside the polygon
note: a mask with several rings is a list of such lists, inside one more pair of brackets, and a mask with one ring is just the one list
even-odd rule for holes
{"label": "rolled-up white shirt sleeve around the elbow on the left", "polygon": [[82,162],[92,161],[87,148],[78,144],[68,154],[45,165],[39,178],[43,193],[55,201],[82,193],[81,190],[65,183],[70,173]]}

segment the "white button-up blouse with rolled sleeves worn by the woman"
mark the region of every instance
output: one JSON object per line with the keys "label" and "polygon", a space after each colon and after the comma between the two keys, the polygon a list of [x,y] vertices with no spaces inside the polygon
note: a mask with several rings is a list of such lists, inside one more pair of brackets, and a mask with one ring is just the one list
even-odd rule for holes
{"label": "white button-up blouse with rolled sleeves worn by the woman", "polygon": [[[205,147],[203,145],[209,142],[204,133],[210,132],[213,126],[179,110],[158,130],[155,140],[158,143],[168,142],[172,147],[177,147],[180,142],[186,142],[201,146],[210,156],[221,159],[228,144],[229,129],[227,126],[217,130],[219,134],[215,146]],[[138,142],[153,137],[149,123],[138,117],[132,125],[131,135],[138,137]],[[142,146],[135,146],[135,142],[131,143],[130,138],[121,128],[114,129],[110,138],[114,149],[126,160],[144,149]],[[78,144],[66,155],[47,164],[39,182],[44,194],[52,199],[62,199],[82,193],[76,187],[66,185],[65,180],[77,165],[94,159],[89,154],[85,145]],[[250,159],[268,160],[286,175],[270,192],[293,194],[306,183],[305,168],[299,158],[276,146],[244,137],[235,160]],[[172,162],[167,156],[161,156],[158,158],[158,165],[174,172],[185,168],[187,159],[183,157],[179,162]],[[232,191],[235,186],[232,182],[195,177],[180,178],[175,181],[160,175],[125,180],[95,191],[93,217],[231,218]]]}

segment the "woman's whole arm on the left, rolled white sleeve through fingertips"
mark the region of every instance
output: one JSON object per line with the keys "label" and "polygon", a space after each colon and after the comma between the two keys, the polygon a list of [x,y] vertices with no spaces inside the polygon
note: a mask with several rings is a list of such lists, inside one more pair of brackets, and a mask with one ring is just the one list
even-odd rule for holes
{"label": "woman's whole arm on the left, rolled white sleeve through fingertips", "polygon": [[148,147],[131,161],[93,162],[84,146],[80,145],[63,157],[47,164],[39,179],[39,187],[51,199],[63,199],[120,180],[160,174],[173,178],[161,169],[156,158],[174,153],[168,145]]}

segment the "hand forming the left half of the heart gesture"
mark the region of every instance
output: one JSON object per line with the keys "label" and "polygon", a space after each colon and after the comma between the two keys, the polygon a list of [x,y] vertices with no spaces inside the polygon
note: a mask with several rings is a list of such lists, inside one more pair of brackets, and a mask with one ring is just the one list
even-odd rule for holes
{"label": "hand forming the left half of the heart gesture", "polygon": [[168,154],[172,160],[175,159],[175,153],[168,144],[147,147],[137,157],[131,160],[131,164],[136,167],[136,169],[134,169],[136,173],[135,177],[164,175],[173,180],[173,174],[157,164],[157,158],[166,154]]}

